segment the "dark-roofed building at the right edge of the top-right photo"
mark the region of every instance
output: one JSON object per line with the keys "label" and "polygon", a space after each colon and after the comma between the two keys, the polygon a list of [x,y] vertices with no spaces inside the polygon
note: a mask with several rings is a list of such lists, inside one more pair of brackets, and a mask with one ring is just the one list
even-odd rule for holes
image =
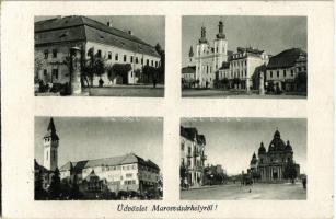
{"label": "dark-roofed building at the right edge of the top-right photo", "polygon": [[[291,48],[273,56],[266,70],[266,82],[285,91],[297,90],[297,77],[306,77],[306,53],[300,48]],[[306,89],[306,81],[302,84]]]}

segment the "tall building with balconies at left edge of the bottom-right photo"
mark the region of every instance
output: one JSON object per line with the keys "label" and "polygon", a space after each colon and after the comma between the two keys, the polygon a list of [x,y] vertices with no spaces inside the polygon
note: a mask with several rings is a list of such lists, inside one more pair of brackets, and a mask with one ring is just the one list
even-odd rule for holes
{"label": "tall building with balconies at left edge of the bottom-right photo", "polygon": [[[206,138],[196,128],[181,126],[181,166],[187,170],[189,186],[202,185]],[[185,178],[183,178],[185,180]]]}

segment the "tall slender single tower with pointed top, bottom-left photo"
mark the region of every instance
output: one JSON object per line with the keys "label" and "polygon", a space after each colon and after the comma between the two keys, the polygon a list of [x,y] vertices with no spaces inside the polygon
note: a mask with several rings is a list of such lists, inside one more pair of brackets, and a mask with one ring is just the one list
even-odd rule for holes
{"label": "tall slender single tower with pointed top, bottom-left photo", "polygon": [[53,117],[50,118],[47,134],[43,137],[44,143],[44,166],[49,171],[55,171],[58,162],[58,142],[59,138],[56,134],[56,128]]}

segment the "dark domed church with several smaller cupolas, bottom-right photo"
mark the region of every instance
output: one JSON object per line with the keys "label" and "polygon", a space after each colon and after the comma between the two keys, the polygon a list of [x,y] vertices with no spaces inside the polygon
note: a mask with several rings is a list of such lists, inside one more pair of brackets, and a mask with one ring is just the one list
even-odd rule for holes
{"label": "dark domed church with several smaller cupolas, bottom-right photo", "polygon": [[285,143],[280,132],[276,130],[268,150],[262,142],[258,155],[253,153],[247,173],[260,182],[285,182],[285,171],[289,164],[294,168],[298,177],[300,175],[300,165],[293,160],[292,146],[289,140]]}

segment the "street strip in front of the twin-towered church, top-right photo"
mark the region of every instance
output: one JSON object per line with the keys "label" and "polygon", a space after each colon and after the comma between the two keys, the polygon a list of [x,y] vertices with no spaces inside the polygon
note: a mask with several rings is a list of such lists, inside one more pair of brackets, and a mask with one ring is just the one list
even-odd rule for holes
{"label": "street strip in front of the twin-towered church, top-right photo", "polygon": [[258,95],[256,93],[247,94],[240,91],[223,91],[223,90],[183,90],[182,97],[216,97],[216,99],[306,99],[306,95]]}

